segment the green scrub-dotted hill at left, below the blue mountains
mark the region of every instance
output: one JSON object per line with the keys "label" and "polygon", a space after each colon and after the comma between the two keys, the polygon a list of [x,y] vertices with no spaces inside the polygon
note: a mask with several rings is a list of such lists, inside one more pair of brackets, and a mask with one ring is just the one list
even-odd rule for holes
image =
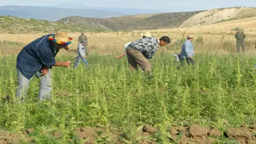
{"label": "green scrub-dotted hill at left, below the blue mountains", "polygon": [[0,16],[1,33],[54,33],[56,31],[80,32],[83,29],[67,26],[47,20],[22,19],[19,17]]}

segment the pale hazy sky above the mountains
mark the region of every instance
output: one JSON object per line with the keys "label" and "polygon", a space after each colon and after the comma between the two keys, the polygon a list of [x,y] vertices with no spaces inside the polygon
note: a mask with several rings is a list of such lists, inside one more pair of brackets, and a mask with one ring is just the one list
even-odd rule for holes
{"label": "pale hazy sky above the mountains", "polygon": [[63,3],[81,3],[89,6],[148,8],[163,12],[184,12],[227,8],[232,6],[256,7],[255,0],[0,0],[0,6],[52,6]]}

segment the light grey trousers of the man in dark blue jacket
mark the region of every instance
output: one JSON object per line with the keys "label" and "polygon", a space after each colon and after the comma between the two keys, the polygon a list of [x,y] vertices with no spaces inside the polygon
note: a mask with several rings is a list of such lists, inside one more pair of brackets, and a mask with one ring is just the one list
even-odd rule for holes
{"label": "light grey trousers of the man in dark blue jacket", "polygon": [[[24,77],[21,72],[17,69],[18,72],[18,88],[16,90],[16,99],[22,101],[25,99],[25,96],[28,92],[29,79]],[[39,73],[39,72],[38,72]],[[51,69],[41,77],[40,81],[40,91],[38,97],[40,100],[51,100],[51,91],[52,91],[52,74]]]}

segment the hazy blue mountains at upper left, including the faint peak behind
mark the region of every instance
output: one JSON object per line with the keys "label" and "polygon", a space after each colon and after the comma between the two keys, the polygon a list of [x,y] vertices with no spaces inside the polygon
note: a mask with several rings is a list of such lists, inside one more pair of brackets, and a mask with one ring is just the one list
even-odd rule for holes
{"label": "hazy blue mountains at upper left, including the faint peak behind", "polygon": [[160,13],[161,11],[136,8],[108,8],[65,3],[55,6],[0,6],[0,15],[20,18],[56,21],[65,17],[109,18],[141,13]]}

